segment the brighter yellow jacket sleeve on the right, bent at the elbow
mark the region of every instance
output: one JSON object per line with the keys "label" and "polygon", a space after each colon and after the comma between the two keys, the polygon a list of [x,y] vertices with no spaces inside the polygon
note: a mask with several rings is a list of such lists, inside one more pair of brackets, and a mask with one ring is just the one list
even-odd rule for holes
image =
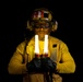
{"label": "brighter yellow jacket sleeve on the right, bent at the elbow", "polygon": [[68,46],[64,43],[60,44],[61,61],[57,62],[59,73],[74,73],[75,62],[71,56]]}

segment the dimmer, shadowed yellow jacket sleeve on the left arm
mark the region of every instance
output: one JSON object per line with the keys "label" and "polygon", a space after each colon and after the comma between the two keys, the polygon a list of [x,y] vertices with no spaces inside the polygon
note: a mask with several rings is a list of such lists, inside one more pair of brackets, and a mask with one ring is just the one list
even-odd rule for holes
{"label": "dimmer, shadowed yellow jacket sleeve on the left arm", "polygon": [[24,50],[24,43],[20,44],[16,47],[15,52],[10,59],[10,62],[8,65],[8,71],[10,74],[22,74],[26,71],[26,65],[22,63],[23,50]]}

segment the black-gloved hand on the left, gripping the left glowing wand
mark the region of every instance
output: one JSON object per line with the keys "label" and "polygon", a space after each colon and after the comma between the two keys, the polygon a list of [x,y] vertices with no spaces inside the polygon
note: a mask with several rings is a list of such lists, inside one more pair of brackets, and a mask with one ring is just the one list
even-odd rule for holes
{"label": "black-gloved hand on the left, gripping the left glowing wand", "polygon": [[32,61],[26,63],[28,72],[39,72],[40,71],[40,59],[34,58]]}

